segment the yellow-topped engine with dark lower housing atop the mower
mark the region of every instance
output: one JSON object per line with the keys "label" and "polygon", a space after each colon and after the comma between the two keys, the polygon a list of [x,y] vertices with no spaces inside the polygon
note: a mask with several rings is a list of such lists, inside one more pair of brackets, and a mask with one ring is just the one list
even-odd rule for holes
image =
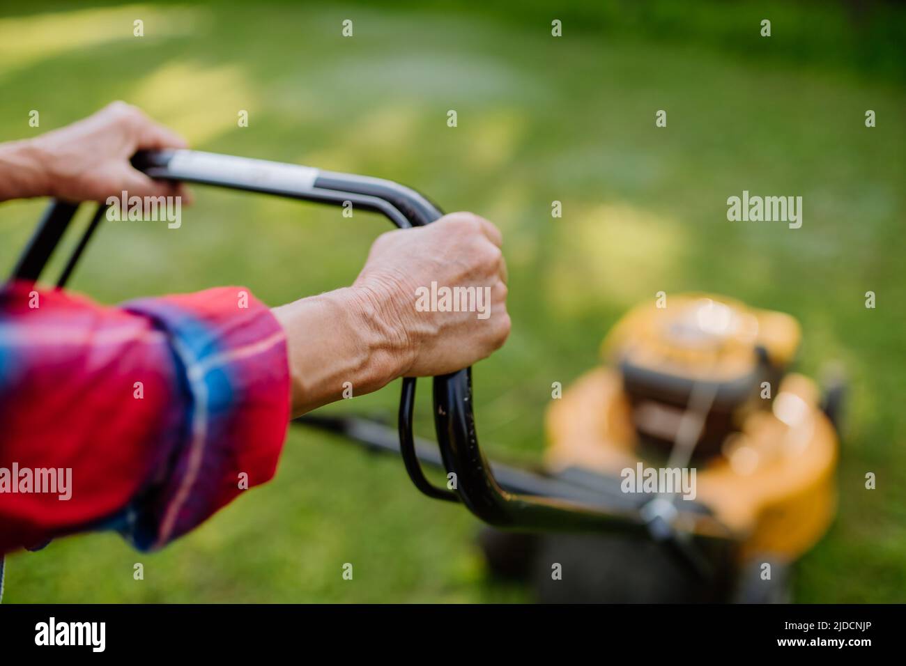
{"label": "yellow-topped engine with dark lower housing atop the mower", "polygon": [[680,295],[670,307],[643,305],[627,314],[605,341],[604,357],[622,376],[632,424],[645,442],[672,447],[684,415],[699,407],[693,389],[706,396],[693,447],[696,458],[708,458],[753,411],[770,409],[799,337],[787,314]]}

